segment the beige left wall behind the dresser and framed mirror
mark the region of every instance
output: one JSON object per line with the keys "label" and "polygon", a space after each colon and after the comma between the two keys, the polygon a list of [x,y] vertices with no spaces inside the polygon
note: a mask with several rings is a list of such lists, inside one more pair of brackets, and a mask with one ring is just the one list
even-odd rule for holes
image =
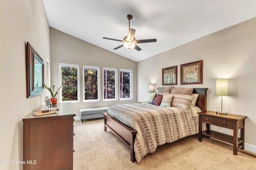
{"label": "beige left wall behind the dresser and framed mirror", "polygon": [[23,167],[16,164],[23,160],[22,119],[44,104],[46,95],[26,98],[26,42],[46,65],[50,30],[42,0],[0,0],[0,13],[0,160],[15,160],[0,169],[17,170]]}

